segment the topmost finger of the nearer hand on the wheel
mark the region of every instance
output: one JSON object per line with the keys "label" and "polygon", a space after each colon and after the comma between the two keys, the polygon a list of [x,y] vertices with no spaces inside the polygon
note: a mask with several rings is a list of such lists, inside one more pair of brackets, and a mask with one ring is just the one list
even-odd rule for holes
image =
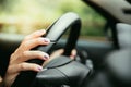
{"label": "topmost finger of the nearer hand on the wheel", "polygon": [[45,29],[36,30],[36,32],[32,33],[31,35],[27,35],[25,37],[25,40],[37,38],[37,37],[40,37],[40,36],[45,35],[45,34],[46,34]]}

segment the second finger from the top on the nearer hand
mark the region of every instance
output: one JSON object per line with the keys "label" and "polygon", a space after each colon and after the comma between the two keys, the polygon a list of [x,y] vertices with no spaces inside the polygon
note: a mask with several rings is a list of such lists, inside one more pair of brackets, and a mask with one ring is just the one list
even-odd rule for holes
{"label": "second finger from the top on the nearer hand", "polygon": [[31,50],[39,45],[49,45],[50,44],[50,40],[48,38],[35,38],[35,39],[32,39],[32,40],[27,40],[27,41],[24,41],[22,45],[21,45],[21,49],[23,50]]}

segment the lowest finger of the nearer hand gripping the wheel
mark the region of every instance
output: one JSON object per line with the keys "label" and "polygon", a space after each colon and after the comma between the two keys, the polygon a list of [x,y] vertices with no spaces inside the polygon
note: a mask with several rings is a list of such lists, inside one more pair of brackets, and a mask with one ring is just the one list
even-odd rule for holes
{"label": "lowest finger of the nearer hand gripping the wheel", "polygon": [[[12,74],[13,73],[19,73],[21,71],[34,71],[34,72],[39,72],[43,70],[43,67],[38,64],[35,64],[35,63],[26,63],[26,62],[23,62],[23,63],[20,63],[17,65],[12,65],[10,67]],[[10,72],[10,74],[11,74]]]}

